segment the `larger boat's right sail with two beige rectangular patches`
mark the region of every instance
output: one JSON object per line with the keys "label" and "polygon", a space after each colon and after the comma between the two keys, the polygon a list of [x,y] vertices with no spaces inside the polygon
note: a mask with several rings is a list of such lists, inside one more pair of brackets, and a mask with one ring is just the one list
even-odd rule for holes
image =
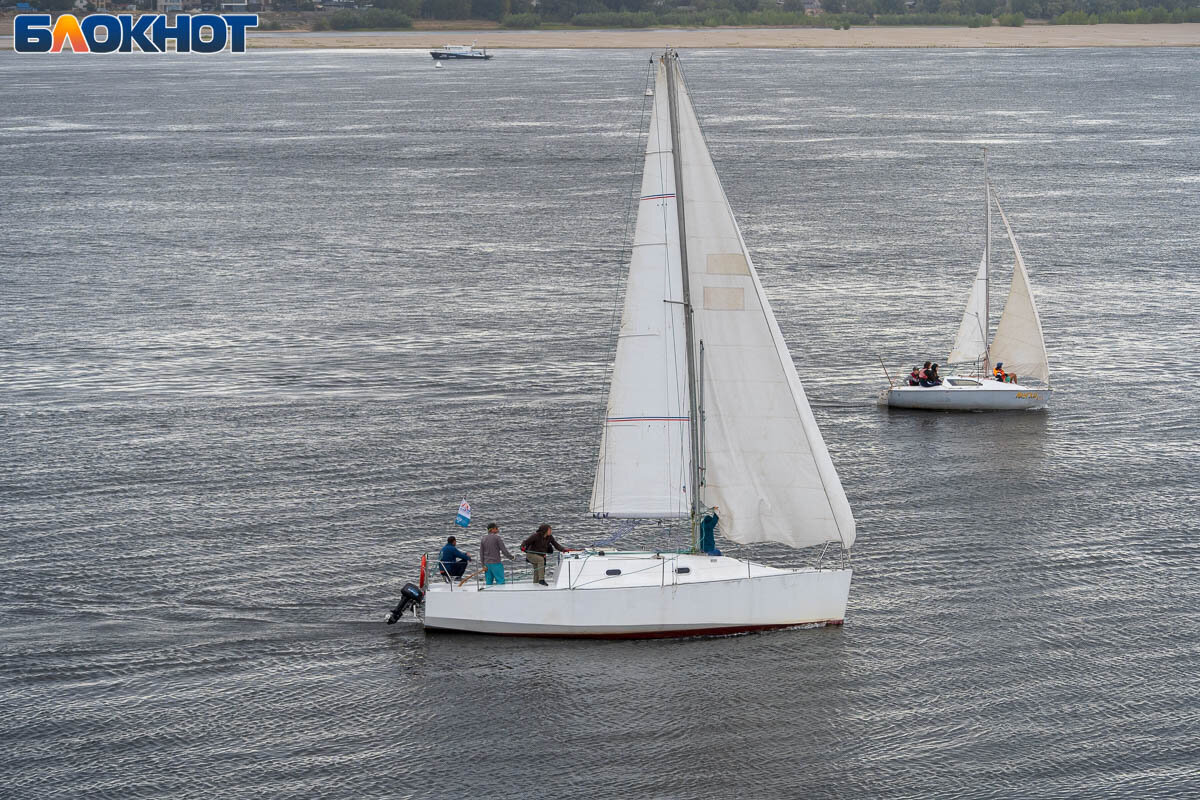
{"label": "larger boat's right sail with two beige rectangular patches", "polygon": [[[672,68],[677,66],[672,62]],[[854,542],[854,517],[679,88],[689,284],[702,349],[703,501],[736,542]],[[665,94],[665,92],[662,92]]]}

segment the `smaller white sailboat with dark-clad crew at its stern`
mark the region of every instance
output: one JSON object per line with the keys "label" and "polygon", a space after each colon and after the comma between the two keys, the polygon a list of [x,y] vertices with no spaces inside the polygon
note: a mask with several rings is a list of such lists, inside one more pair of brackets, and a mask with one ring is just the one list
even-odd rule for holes
{"label": "smaller white sailboat with dark-clad crew at its stern", "polygon": [[[1038,317],[1030,289],[1030,275],[1025,269],[1021,248],[1008,224],[988,180],[988,160],[984,155],[984,207],[986,233],[984,253],[979,261],[967,306],[962,312],[959,333],[947,360],[956,367],[955,374],[942,377],[940,386],[893,385],[884,391],[883,399],[893,408],[916,408],[941,411],[1000,411],[1045,408],[1050,403],[1050,365],[1046,360],[1045,339],[1042,336],[1042,319]],[[991,273],[991,206],[996,205],[1000,218],[1013,246],[1013,283],[1001,314],[996,335],[988,344],[991,327],[989,319]],[[992,365],[1003,369],[1015,380],[1000,381],[992,377]]]}

